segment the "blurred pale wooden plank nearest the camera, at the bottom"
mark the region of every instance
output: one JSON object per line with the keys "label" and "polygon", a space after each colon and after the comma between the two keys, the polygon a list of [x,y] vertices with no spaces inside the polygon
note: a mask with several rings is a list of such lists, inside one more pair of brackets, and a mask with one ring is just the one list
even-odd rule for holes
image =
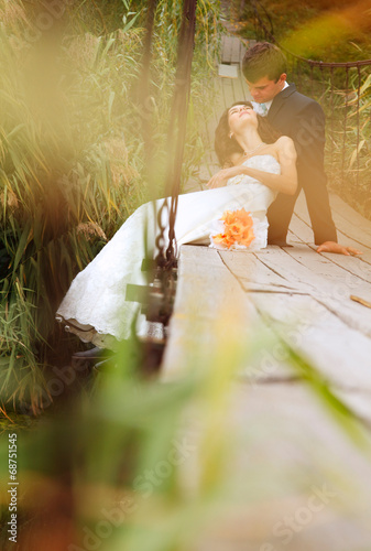
{"label": "blurred pale wooden plank nearest the camera, at the bottom", "polygon": [[[194,442],[195,434],[203,437],[203,410],[193,419]],[[365,431],[363,445],[356,445],[308,388],[292,383],[234,386],[222,428],[230,491],[204,523],[195,550],[371,549]],[[197,480],[199,464],[188,463],[186,474]]]}

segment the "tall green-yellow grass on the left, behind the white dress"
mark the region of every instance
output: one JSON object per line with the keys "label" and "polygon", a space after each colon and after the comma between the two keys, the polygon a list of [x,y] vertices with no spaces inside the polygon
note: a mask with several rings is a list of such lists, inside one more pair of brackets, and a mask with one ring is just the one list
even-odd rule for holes
{"label": "tall green-yellow grass on the left, behind the white dress", "polygon": [[[155,20],[145,114],[155,190],[145,180],[135,101],[146,2],[117,4],[68,3],[41,32],[42,7],[0,2],[0,392],[34,411],[47,367],[67,361],[77,345],[54,323],[72,278],[140,203],[163,191],[179,3],[160,1]],[[217,30],[218,3],[200,2],[184,181],[204,153],[198,121],[212,96]]]}

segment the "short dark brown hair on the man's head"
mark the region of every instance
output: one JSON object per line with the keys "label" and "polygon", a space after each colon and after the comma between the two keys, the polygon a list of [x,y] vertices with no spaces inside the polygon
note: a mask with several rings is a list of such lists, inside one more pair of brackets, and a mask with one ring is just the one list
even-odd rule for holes
{"label": "short dark brown hair on the man's head", "polygon": [[249,83],[265,76],[275,83],[287,72],[287,61],[282,51],[270,42],[257,42],[249,47],[242,60],[242,73]]}

